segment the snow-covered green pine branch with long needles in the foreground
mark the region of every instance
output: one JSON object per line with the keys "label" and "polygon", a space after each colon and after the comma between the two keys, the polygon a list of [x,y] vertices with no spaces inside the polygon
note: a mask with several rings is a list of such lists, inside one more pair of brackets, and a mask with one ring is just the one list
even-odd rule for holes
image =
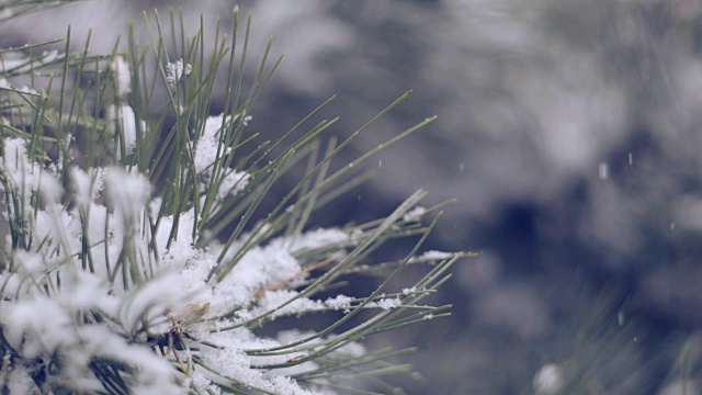
{"label": "snow-covered green pine branch with long needles in the foreground", "polygon": [[[372,259],[388,239],[428,234],[433,223],[421,218],[438,207],[418,208],[426,193],[372,223],[312,227],[314,210],[337,195],[333,182],[358,167],[328,173],[338,149],[331,143],[322,155],[316,139],[327,121],[278,158],[265,143],[249,143],[257,89],[241,101],[240,87],[233,89],[231,104],[212,116],[211,65],[228,49],[215,43],[207,71],[197,64],[201,40],[202,31],[186,41],[189,58],[166,61],[156,82],[138,75],[144,60],[128,54],[59,59],[79,69],[94,61],[97,76],[111,70],[112,80],[94,88],[95,98],[113,94],[103,111],[56,109],[50,91],[24,98],[31,105],[3,97],[3,394],[330,394],[363,386],[362,376],[406,370],[385,361],[398,351],[366,350],[363,338],[446,315],[446,306],[418,303],[461,255],[416,255],[422,237],[404,259]],[[154,50],[166,56],[161,41]],[[165,116],[148,127],[139,121],[154,83],[168,92],[172,125]],[[61,94],[73,102],[84,93],[67,86],[64,79]],[[281,173],[301,160],[309,163],[305,178],[261,212]],[[433,266],[416,283],[389,286],[407,264],[427,262]],[[370,294],[339,291],[349,275],[378,269],[389,274]],[[274,325],[282,317],[297,317],[305,329]]]}

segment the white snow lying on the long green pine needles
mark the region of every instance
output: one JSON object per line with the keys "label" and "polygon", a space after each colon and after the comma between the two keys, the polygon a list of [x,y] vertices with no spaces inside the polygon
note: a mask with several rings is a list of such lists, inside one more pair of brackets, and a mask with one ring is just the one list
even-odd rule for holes
{"label": "white snow lying on the long green pine needles", "polygon": [[[113,64],[117,70],[124,66],[120,61]],[[116,127],[124,133],[126,143],[133,144],[132,109],[112,106],[109,115],[122,124]],[[215,116],[207,121],[196,147],[196,167],[207,177],[223,120]],[[271,311],[274,313],[270,317],[275,318],[353,308],[354,300],[346,295],[325,301],[298,297],[295,287],[309,273],[296,257],[331,245],[351,245],[358,241],[358,233],[352,237],[341,229],[315,229],[275,237],[248,249],[222,281],[207,281],[218,264],[223,246],[213,241],[206,248],[195,247],[195,208],[190,207],[180,213],[179,233],[167,249],[174,219],[160,218],[157,229],[145,221],[149,219],[147,213],[155,219],[162,202],[151,198],[152,187],[137,168],[83,170],[70,165],[68,158],[70,196],[66,196],[57,174],[30,161],[24,140],[8,138],[4,147],[0,166],[12,193],[26,191],[21,195],[29,207],[24,215],[32,237],[31,250],[13,251],[13,271],[0,273],[0,325],[8,342],[22,358],[60,354],[66,359],[61,374],[77,392],[100,391],[102,384],[89,366],[99,358],[133,366],[135,394],[185,393],[190,385],[217,393],[212,383],[227,382],[227,377],[273,393],[318,394],[290,379],[290,374],[316,369],[314,362],[268,372],[253,368],[285,363],[304,357],[303,352],[268,357],[245,352],[278,347],[308,334],[290,331],[270,339],[258,337],[246,327],[227,327]],[[250,179],[246,172],[228,171],[220,189],[225,192],[238,191]],[[46,205],[34,212],[30,199],[37,192]],[[66,198],[70,198],[72,206],[61,205]],[[264,226],[262,232],[267,230]],[[235,240],[224,264],[244,248],[249,237],[244,235]],[[338,247],[330,258],[342,256],[343,247]],[[367,307],[390,309],[399,305],[397,297],[382,297]],[[99,312],[104,321],[94,321],[86,312]],[[186,379],[174,369],[174,357],[159,356],[143,343],[144,328],[148,327],[151,336],[165,336],[176,325],[220,347],[199,345],[194,351],[219,375],[197,366]],[[185,356],[184,351],[179,352]],[[364,349],[351,343],[335,352],[361,356]],[[23,365],[18,366],[10,374],[11,391],[32,392],[33,383],[26,380]]]}

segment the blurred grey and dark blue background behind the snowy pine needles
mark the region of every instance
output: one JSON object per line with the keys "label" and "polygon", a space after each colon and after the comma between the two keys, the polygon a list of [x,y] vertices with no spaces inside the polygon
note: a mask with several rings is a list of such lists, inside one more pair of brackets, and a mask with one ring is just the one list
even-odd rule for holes
{"label": "blurred grey and dark blue background behind the snowy pine needles", "polygon": [[[95,52],[144,9],[235,2],[89,1],[5,23],[7,47],[92,29]],[[348,135],[408,89],[349,157],[415,123],[377,177],[318,216],[387,215],[424,188],[451,198],[428,248],[479,251],[455,267],[453,316],[367,339],[417,345],[410,394],[700,394],[701,0],[260,0],[250,48],[285,54],[249,128],[287,131],[322,100]],[[252,56],[253,77],[258,56]],[[217,100],[217,98],[215,98]],[[328,114],[328,115],[327,115]],[[267,137],[268,138],[268,137]],[[292,182],[292,181],[291,181]],[[540,392],[541,391],[541,392]]]}

